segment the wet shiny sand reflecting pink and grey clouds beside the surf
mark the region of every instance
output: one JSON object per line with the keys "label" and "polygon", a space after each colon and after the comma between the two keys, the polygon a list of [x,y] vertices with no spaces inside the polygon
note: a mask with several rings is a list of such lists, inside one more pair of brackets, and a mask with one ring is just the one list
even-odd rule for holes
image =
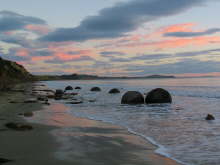
{"label": "wet shiny sand reflecting pink and grey clouds beside the surf", "polygon": [[53,103],[36,112],[33,120],[58,127],[52,135],[60,144],[55,156],[79,165],[84,164],[164,164],[176,165],[173,160],[156,155],[156,147],[127,130],[68,115],[68,107]]}

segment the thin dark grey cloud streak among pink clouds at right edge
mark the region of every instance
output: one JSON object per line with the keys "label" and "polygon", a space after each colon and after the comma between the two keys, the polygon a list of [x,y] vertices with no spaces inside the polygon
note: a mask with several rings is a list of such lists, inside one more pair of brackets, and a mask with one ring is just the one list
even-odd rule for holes
{"label": "thin dark grey cloud streak among pink clouds at right edge", "polygon": [[217,32],[220,32],[220,28],[208,29],[203,32],[171,32],[171,33],[165,33],[164,36],[165,37],[198,37],[198,36],[215,34]]}

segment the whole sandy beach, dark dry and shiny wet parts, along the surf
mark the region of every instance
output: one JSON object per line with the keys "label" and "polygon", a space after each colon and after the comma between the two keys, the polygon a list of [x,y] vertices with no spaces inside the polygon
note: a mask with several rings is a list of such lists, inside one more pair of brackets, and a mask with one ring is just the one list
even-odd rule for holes
{"label": "whole sandy beach, dark dry and shiny wet parts, along the surf", "polygon": [[[125,128],[68,115],[67,107],[61,103],[9,104],[8,98],[24,99],[25,95],[6,95],[0,96],[1,104],[5,103],[4,110],[0,109],[0,157],[13,160],[7,164],[178,164],[156,154],[155,145]],[[6,122],[26,122],[17,114],[27,110],[34,111],[34,116],[27,118],[33,130],[5,130]]]}

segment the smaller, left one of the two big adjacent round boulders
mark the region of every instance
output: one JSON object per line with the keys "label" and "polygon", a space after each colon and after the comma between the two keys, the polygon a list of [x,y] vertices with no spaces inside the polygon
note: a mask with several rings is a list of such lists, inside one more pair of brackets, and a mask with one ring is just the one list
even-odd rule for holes
{"label": "smaller, left one of the two big adjacent round boulders", "polygon": [[121,104],[144,104],[144,96],[137,91],[128,91],[122,96]]}

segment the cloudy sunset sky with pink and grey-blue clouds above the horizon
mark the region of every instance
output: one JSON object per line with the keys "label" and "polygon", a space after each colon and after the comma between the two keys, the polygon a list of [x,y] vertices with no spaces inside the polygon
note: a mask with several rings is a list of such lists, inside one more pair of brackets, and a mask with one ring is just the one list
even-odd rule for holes
{"label": "cloudy sunset sky with pink and grey-blue clouds above the horizon", "polygon": [[33,74],[220,76],[219,0],[1,0],[0,57]]}

